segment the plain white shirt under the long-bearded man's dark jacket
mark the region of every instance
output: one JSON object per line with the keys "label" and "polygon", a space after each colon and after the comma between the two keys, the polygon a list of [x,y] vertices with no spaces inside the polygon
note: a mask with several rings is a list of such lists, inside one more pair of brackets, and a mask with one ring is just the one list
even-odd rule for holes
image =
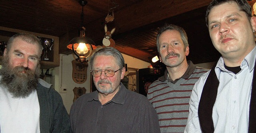
{"label": "plain white shirt under the long-bearded man's dark jacket", "polygon": [[36,91],[26,98],[13,98],[0,86],[1,133],[40,133],[39,113]]}

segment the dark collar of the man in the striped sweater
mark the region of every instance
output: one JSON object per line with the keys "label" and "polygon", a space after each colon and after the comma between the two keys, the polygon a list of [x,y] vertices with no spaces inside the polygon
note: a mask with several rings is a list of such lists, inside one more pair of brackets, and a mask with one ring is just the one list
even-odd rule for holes
{"label": "dark collar of the man in the striped sweater", "polygon": [[[196,69],[196,65],[194,65],[190,60],[188,61],[188,69],[186,72],[178,79],[184,78],[187,79]],[[167,69],[164,71],[164,75],[162,77],[158,78],[160,81],[165,81],[166,79],[172,81],[171,79],[168,78],[168,71]]]}

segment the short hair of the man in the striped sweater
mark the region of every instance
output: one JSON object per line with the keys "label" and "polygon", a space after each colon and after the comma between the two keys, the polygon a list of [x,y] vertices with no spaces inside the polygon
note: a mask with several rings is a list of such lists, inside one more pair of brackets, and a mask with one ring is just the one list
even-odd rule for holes
{"label": "short hair of the man in the striped sweater", "polygon": [[176,26],[174,24],[164,24],[164,26],[160,27],[158,30],[158,34],[156,36],[156,46],[159,52],[159,36],[165,32],[166,30],[176,30],[180,33],[181,40],[184,44],[184,51],[186,51],[186,47],[188,46],[188,36],[183,28],[180,26]]}

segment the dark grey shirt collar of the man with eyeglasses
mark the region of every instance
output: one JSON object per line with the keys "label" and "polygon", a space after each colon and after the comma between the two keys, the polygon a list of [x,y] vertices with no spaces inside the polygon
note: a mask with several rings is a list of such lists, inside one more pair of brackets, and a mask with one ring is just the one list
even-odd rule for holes
{"label": "dark grey shirt collar of the man with eyeglasses", "polygon": [[[108,101],[106,104],[110,103],[110,102],[114,102],[117,104],[122,104],[124,105],[124,100],[125,100],[125,95],[126,95],[126,87],[123,85],[123,83],[120,83],[120,89],[119,91],[116,93],[116,95],[110,100]],[[89,98],[88,101],[99,101],[98,98],[98,91],[94,91],[92,92],[92,97]]]}

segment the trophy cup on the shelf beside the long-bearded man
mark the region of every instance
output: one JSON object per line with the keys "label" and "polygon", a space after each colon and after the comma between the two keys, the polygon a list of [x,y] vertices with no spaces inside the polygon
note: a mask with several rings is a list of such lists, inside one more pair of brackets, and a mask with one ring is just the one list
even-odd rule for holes
{"label": "trophy cup on the shelf beside the long-bearded man", "polygon": [[52,46],[53,46],[53,39],[48,39],[48,38],[40,38],[41,42],[42,42],[42,46],[43,46],[43,51],[44,54],[41,58],[41,60],[43,61],[49,61],[49,56],[48,56],[48,51],[52,50]]}

